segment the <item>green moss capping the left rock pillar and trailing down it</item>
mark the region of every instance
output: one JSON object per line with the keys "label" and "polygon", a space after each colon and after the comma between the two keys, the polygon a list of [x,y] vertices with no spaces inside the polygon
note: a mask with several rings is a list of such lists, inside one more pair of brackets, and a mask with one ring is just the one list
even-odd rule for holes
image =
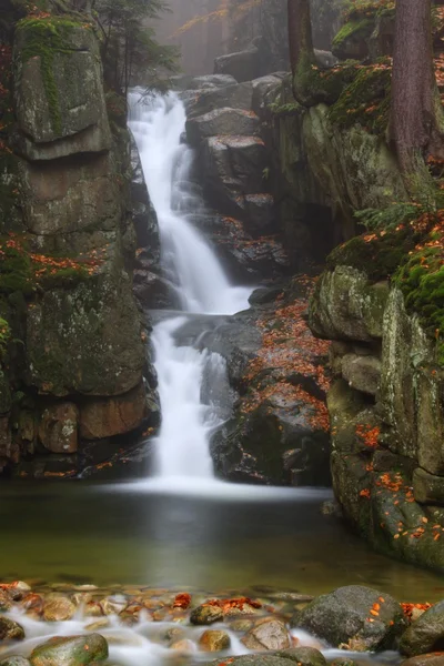
{"label": "green moss capping the left rock pillar and trailing down it", "polygon": [[72,19],[50,17],[48,19],[23,19],[17,30],[23,37],[21,59],[23,64],[31,58],[40,58],[40,71],[44,92],[48,100],[52,129],[61,134],[62,118],[60,111],[59,91],[54,77],[54,60],[60,56],[72,53],[67,46],[72,30],[84,28]]}

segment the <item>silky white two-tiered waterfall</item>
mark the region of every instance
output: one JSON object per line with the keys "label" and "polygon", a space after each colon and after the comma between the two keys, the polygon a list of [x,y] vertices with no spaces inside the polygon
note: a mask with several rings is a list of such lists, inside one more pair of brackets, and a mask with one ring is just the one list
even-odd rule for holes
{"label": "silky white two-tiered waterfall", "polygon": [[[159,219],[162,269],[182,312],[234,314],[249,307],[251,289],[230,284],[214,252],[192,225],[192,211],[199,210],[200,201],[190,184],[193,152],[181,141],[185,120],[183,103],[173,93],[148,101],[140,91],[130,94],[130,128]],[[184,321],[178,313],[155,324],[152,334],[162,411],[154,467],[163,478],[209,480],[213,476],[209,436],[221,417],[212,401],[203,400],[203,379],[210,364],[218,381],[225,362],[218,354],[178,346],[174,332]]]}

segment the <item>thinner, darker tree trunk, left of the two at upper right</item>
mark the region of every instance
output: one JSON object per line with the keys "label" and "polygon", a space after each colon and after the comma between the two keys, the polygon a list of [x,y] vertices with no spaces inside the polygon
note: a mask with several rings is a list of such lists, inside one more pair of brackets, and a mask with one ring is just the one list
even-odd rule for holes
{"label": "thinner, darker tree trunk, left of the two at upper right", "polygon": [[287,12],[293,94],[300,104],[307,107],[313,103],[316,88],[310,0],[287,0]]}

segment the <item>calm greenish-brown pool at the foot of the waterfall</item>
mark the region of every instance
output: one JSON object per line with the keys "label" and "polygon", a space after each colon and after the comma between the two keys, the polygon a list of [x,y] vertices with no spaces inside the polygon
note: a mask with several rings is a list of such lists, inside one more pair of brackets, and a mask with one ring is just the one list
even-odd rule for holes
{"label": "calm greenish-brown pool at the foot of the waterfall", "polygon": [[323,515],[329,491],[181,494],[141,484],[130,491],[88,482],[3,484],[0,577],[209,592],[269,585],[310,594],[364,584],[402,601],[444,596],[442,576],[371,552]]}

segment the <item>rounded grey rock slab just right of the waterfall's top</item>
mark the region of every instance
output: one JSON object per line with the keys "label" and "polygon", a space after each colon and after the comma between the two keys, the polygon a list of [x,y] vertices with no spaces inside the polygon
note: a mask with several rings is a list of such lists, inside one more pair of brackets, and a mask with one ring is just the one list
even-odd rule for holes
{"label": "rounded grey rock slab just right of the waterfall's top", "polygon": [[243,109],[215,109],[186,121],[188,141],[196,148],[209,137],[221,134],[253,137],[259,134],[259,118],[252,111]]}

